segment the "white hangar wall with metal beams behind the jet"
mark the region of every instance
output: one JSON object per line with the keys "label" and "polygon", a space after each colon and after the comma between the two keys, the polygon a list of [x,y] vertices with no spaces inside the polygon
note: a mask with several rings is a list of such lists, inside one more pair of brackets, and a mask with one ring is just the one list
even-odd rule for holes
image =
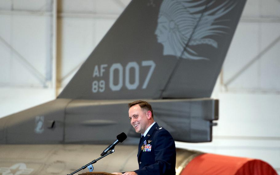
{"label": "white hangar wall with metal beams behind the jet", "polygon": [[[0,0],[0,117],[55,99],[130,0]],[[247,0],[216,82],[213,142],[280,173],[280,0]]]}

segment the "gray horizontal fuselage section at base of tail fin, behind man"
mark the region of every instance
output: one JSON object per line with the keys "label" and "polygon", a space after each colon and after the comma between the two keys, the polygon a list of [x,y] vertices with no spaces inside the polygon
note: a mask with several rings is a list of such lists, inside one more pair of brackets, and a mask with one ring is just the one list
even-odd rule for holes
{"label": "gray horizontal fuselage section at base of tail fin, behind man", "polygon": [[[116,134],[128,135],[126,144],[138,144],[128,118],[130,100],[57,99],[7,117],[0,122],[0,144],[95,143],[109,144]],[[174,140],[210,142],[218,100],[148,100],[154,119]],[[50,110],[51,109],[51,110]]]}

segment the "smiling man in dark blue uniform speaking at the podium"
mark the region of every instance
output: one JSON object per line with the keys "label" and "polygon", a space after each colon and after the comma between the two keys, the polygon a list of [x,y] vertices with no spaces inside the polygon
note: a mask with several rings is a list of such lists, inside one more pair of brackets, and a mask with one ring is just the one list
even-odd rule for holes
{"label": "smiling man in dark blue uniform speaking at the podium", "polygon": [[141,133],[138,146],[139,169],[118,175],[175,175],[176,149],[170,133],[154,121],[152,107],[138,100],[128,104],[129,119]]}

